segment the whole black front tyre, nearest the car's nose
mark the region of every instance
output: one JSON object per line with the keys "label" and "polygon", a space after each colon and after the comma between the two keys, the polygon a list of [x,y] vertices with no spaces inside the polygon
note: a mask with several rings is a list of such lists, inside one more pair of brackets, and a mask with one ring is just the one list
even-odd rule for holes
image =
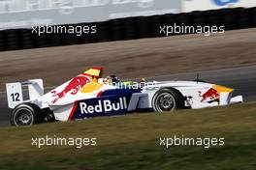
{"label": "whole black front tyre, nearest the car's nose", "polygon": [[174,111],[184,108],[184,98],[176,89],[160,89],[152,99],[152,106],[156,112]]}

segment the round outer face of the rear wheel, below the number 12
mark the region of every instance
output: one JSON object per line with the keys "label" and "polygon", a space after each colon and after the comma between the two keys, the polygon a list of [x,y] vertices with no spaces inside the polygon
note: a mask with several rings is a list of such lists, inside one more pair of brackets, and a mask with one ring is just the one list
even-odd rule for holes
{"label": "round outer face of the rear wheel, below the number 12", "polygon": [[33,123],[33,114],[31,110],[22,108],[17,110],[14,116],[16,127],[31,126]]}

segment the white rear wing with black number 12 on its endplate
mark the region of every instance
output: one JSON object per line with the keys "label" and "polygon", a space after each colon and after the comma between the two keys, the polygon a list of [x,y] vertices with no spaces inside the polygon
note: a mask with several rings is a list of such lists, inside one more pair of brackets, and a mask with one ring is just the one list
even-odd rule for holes
{"label": "white rear wing with black number 12 on its endplate", "polygon": [[[28,89],[28,90],[27,90]],[[44,83],[42,79],[30,79],[24,82],[6,84],[7,99],[9,108],[15,108],[17,104],[37,99],[44,95]],[[24,96],[28,99],[24,100]]]}

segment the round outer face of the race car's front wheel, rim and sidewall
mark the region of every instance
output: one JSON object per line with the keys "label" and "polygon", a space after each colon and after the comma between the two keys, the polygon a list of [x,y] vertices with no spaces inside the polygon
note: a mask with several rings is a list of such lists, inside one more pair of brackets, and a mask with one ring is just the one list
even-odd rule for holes
{"label": "round outer face of the race car's front wheel, rim and sidewall", "polygon": [[162,93],[155,99],[155,107],[159,112],[173,111],[176,108],[176,99],[170,93]]}

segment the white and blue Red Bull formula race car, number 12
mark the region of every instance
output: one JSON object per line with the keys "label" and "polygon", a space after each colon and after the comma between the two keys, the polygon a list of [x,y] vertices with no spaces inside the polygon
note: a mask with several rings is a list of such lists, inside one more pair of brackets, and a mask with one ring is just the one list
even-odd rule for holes
{"label": "white and blue Red Bull formula race car, number 12", "polygon": [[[44,95],[42,79],[8,83],[8,105],[13,126],[71,121],[139,111],[165,112],[181,108],[204,108],[242,102],[231,98],[233,89],[199,81],[120,81],[102,77],[93,68]],[[24,88],[28,89],[25,100]]]}

